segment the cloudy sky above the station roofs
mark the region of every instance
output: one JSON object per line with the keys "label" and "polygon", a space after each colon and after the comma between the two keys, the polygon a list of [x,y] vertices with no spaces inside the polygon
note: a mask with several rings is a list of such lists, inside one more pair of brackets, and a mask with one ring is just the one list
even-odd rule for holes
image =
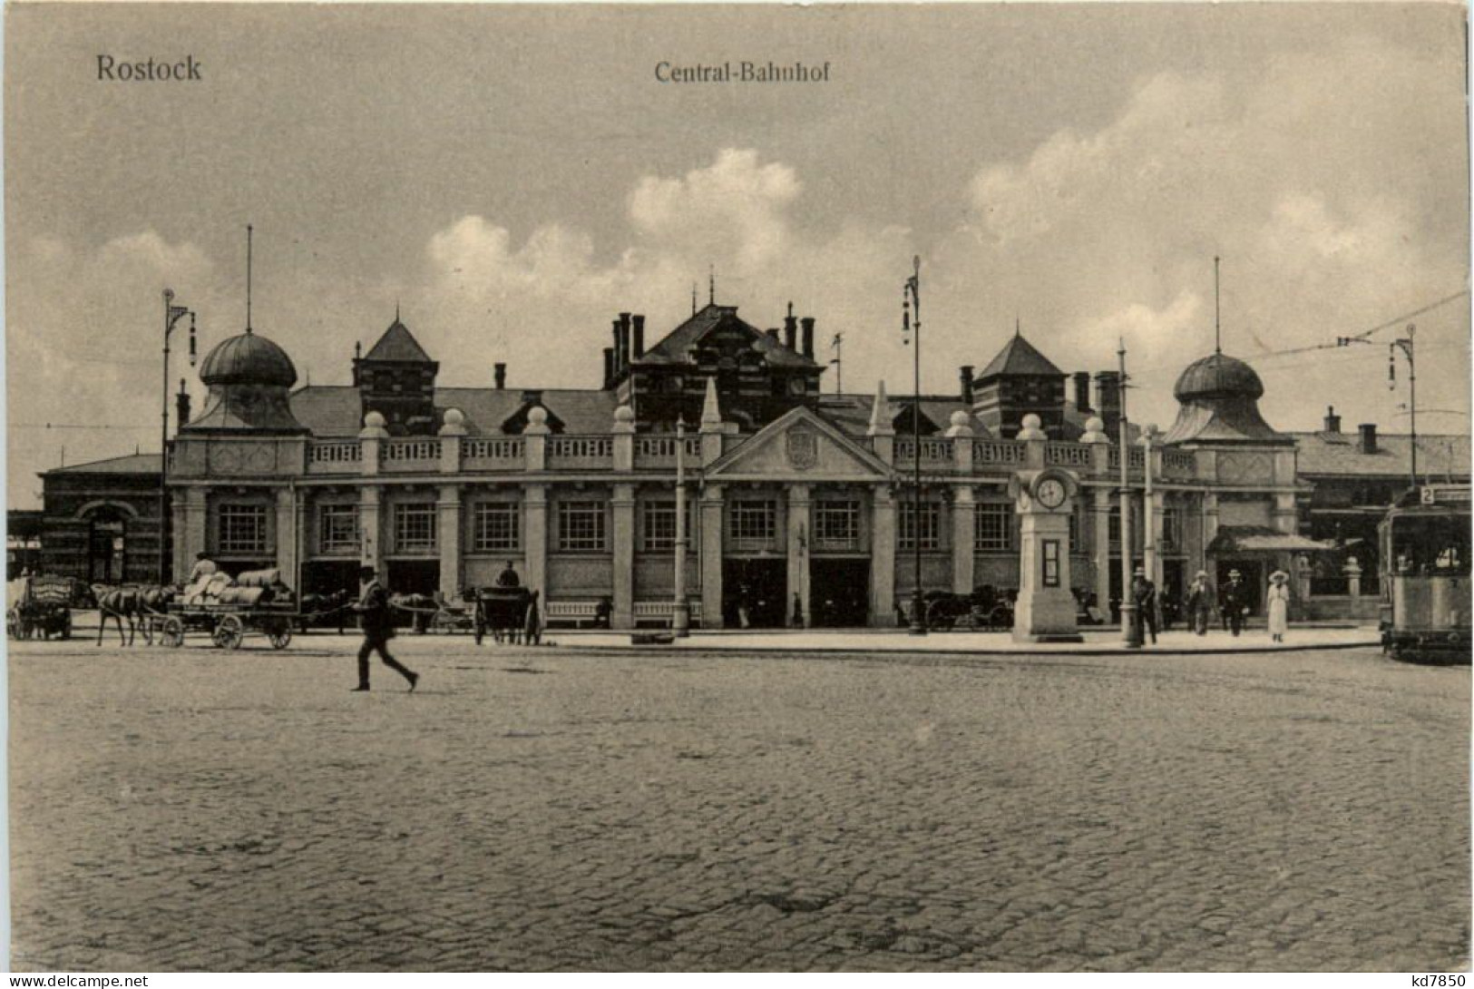
{"label": "cloudy sky above the station roofs", "polygon": [[[442,385],[597,388],[621,311],[653,343],[715,271],[755,326],[814,315],[821,360],[843,333],[846,391],[905,395],[920,256],[924,392],[1020,326],[1064,371],[1123,343],[1128,411],[1167,427],[1220,256],[1274,426],[1403,432],[1415,323],[1419,432],[1467,433],[1468,296],[1405,318],[1468,287],[1464,46],[1437,3],[7,4],[9,503],[158,450],[161,292],[200,357],[239,333],[246,224],[254,327],[302,382],[348,383],[398,307]],[[656,80],[744,59],[830,80]]]}

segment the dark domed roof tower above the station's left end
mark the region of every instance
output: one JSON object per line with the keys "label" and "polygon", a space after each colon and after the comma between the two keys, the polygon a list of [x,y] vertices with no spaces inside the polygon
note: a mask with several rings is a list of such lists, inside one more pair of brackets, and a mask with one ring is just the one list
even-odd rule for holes
{"label": "dark domed roof tower above the station's left end", "polygon": [[308,432],[287,399],[296,367],[280,346],[249,327],[220,342],[206,357],[199,379],[209,388],[205,411],[183,432]]}

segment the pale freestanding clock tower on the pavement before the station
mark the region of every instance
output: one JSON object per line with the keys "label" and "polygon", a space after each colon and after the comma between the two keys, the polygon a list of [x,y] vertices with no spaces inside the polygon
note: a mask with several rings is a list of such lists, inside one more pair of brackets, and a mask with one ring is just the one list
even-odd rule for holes
{"label": "pale freestanding clock tower on the pavement before the station", "polygon": [[1021,470],[1008,482],[1019,511],[1019,603],[1014,641],[1079,643],[1070,591],[1070,513],[1079,485],[1058,467]]}

